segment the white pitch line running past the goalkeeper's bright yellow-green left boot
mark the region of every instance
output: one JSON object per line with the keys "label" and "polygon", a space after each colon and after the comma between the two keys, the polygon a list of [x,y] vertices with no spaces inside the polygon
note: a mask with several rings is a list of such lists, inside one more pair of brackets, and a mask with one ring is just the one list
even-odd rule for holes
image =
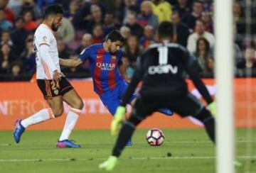
{"label": "white pitch line running past the goalkeeper's bright yellow-green left boot", "polygon": [[[195,157],[130,157],[130,158],[122,158],[122,160],[213,160],[216,157],[214,156],[195,156]],[[3,160],[0,159],[0,162],[52,162],[52,161],[88,161],[88,160],[105,160],[107,158],[68,158],[68,159],[9,159]],[[256,156],[238,156],[236,159],[256,159]]]}

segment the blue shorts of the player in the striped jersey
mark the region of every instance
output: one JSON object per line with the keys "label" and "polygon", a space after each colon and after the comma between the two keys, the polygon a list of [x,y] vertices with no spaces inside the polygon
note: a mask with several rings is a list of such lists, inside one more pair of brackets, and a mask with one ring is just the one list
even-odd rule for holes
{"label": "blue shorts of the player in the striped jersey", "polygon": [[[113,91],[107,91],[100,96],[102,103],[106,106],[108,111],[114,116],[115,111],[117,110],[117,106],[120,105],[122,96],[126,91],[128,84],[126,82],[120,82],[117,84]],[[129,101],[129,104],[137,98],[137,94],[132,95],[132,99]]]}

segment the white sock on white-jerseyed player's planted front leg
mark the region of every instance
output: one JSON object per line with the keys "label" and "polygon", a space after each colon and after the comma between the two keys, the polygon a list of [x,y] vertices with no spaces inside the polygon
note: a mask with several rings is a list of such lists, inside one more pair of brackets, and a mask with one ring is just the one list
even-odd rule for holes
{"label": "white sock on white-jerseyed player's planted front leg", "polygon": [[65,121],[63,132],[60,135],[60,141],[67,140],[69,138],[70,133],[72,132],[73,128],[75,127],[75,124],[78,121],[78,117],[81,111],[82,110],[77,108],[70,108],[70,111],[68,112],[68,116]]}

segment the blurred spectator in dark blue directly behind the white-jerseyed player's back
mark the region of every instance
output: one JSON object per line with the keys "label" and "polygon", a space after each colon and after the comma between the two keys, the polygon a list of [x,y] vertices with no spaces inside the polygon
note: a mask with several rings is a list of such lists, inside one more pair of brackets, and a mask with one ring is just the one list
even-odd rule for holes
{"label": "blurred spectator in dark blue directly behind the white-jerseyed player's back", "polygon": [[26,48],[21,53],[21,60],[23,62],[23,69],[27,74],[36,72],[36,53],[33,48],[33,39],[26,40]]}

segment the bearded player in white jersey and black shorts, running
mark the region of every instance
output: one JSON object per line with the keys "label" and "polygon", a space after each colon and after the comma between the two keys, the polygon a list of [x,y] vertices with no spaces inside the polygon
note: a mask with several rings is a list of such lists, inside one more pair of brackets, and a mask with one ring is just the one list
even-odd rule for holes
{"label": "bearded player in white jersey and black shorts, running", "polygon": [[14,130],[16,143],[19,143],[22,133],[28,126],[61,116],[63,101],[65,101],[71,108],[56,146],[80,147],[69,140],[69,135],[78,121],[83,103],[73,86],[60,72],[57,42],[53,35],[53,32],[56,32],[61,25],[62,18],[63,8],[60,5],[48,6],[43,23],[36,29],[34,35],[36,80],[49,108],[44,108],[26,119],[16,121]]}

